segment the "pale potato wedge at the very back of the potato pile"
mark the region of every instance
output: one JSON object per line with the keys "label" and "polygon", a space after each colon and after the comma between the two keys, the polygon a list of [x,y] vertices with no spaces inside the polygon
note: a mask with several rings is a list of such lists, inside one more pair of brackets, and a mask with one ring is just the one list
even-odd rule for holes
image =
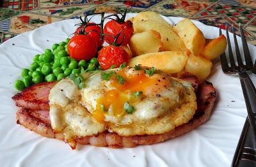
{"label": "pale potato wedge at the very back of the potato pile", "polygon": [[163,24],[171,27],[171,25],[168,22],[166,22],[166,20],[164,20],[164,18],[157,14],[155,11],[140,12],[138,13],[138,15],[134,17],[133,22],[135,23],[143,20],[154,20],[155,22],[157,22],[157,24]]}

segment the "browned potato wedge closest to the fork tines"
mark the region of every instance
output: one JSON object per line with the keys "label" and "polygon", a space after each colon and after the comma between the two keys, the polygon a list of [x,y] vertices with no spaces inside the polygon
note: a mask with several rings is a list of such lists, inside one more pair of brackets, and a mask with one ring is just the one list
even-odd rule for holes
{"label": "browned potato wedge closest to the fork tines", "polygon": [[221,34],[218,38],[211,40],[202,51],[201,55],[205,57],[205,59],[213,60],[216,57],[220,56],[223,52],[225,52],[227,48],[227,39]]}

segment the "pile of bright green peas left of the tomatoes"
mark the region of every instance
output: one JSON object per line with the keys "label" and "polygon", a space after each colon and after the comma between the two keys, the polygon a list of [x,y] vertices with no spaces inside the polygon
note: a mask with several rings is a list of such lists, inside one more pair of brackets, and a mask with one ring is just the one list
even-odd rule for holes
{"label": "pile of bright green peas left of the tomatoes", "polygon": [[15,88],[24,90],[35,83],[60,81],[71,73],[77,74],[82,71],[95,71],[100,69],[99,62],[93,57],[90,62],[81,60],[77,62],[68,55],[67,43],[69,38],[61,43],[52,45],[52,50],[47,48],[43,54],[37,54],[33,58],[30,69],[22,69],[22,80],[15,82]]}

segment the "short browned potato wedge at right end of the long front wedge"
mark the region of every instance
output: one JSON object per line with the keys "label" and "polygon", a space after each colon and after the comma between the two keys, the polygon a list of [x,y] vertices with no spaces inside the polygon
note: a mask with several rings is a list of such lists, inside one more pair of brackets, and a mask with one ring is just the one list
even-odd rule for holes
{"label": "short browned potato wedge at right end of the long front wedge", "polygon": [[189,55],[185,71],[198,77],[199,80],[205,80],[211,73],[212,62],[204,57]]}

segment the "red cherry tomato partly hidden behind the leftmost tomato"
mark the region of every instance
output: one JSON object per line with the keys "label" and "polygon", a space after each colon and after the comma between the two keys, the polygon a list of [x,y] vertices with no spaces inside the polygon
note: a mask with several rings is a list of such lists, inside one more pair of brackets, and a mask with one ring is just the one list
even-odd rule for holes
{"label": "red cherry tomato partly hidden behind the leftmost tomato", "polygon": [[77,27],[74,36],[77,36],[78,34],[87,34],[88,36],[91,36],[93,40],[96,41],[98,48],[102,46],[103,40],[100,40],[100,26],[94,25],[94,22],[88,22],[86,25],[88,25],[85,29],[85,25],[80,25]]}

